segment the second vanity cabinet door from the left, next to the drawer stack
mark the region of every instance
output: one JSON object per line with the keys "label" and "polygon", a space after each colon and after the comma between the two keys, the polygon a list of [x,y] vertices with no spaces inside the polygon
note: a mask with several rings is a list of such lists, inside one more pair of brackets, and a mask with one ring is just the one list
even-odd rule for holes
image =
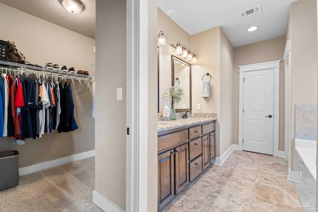
{"label": "second vanity cabinet door from the left, next to the drawer stack", "polygon": [[189,183],[188,143],[175,147],[175,195]]}

